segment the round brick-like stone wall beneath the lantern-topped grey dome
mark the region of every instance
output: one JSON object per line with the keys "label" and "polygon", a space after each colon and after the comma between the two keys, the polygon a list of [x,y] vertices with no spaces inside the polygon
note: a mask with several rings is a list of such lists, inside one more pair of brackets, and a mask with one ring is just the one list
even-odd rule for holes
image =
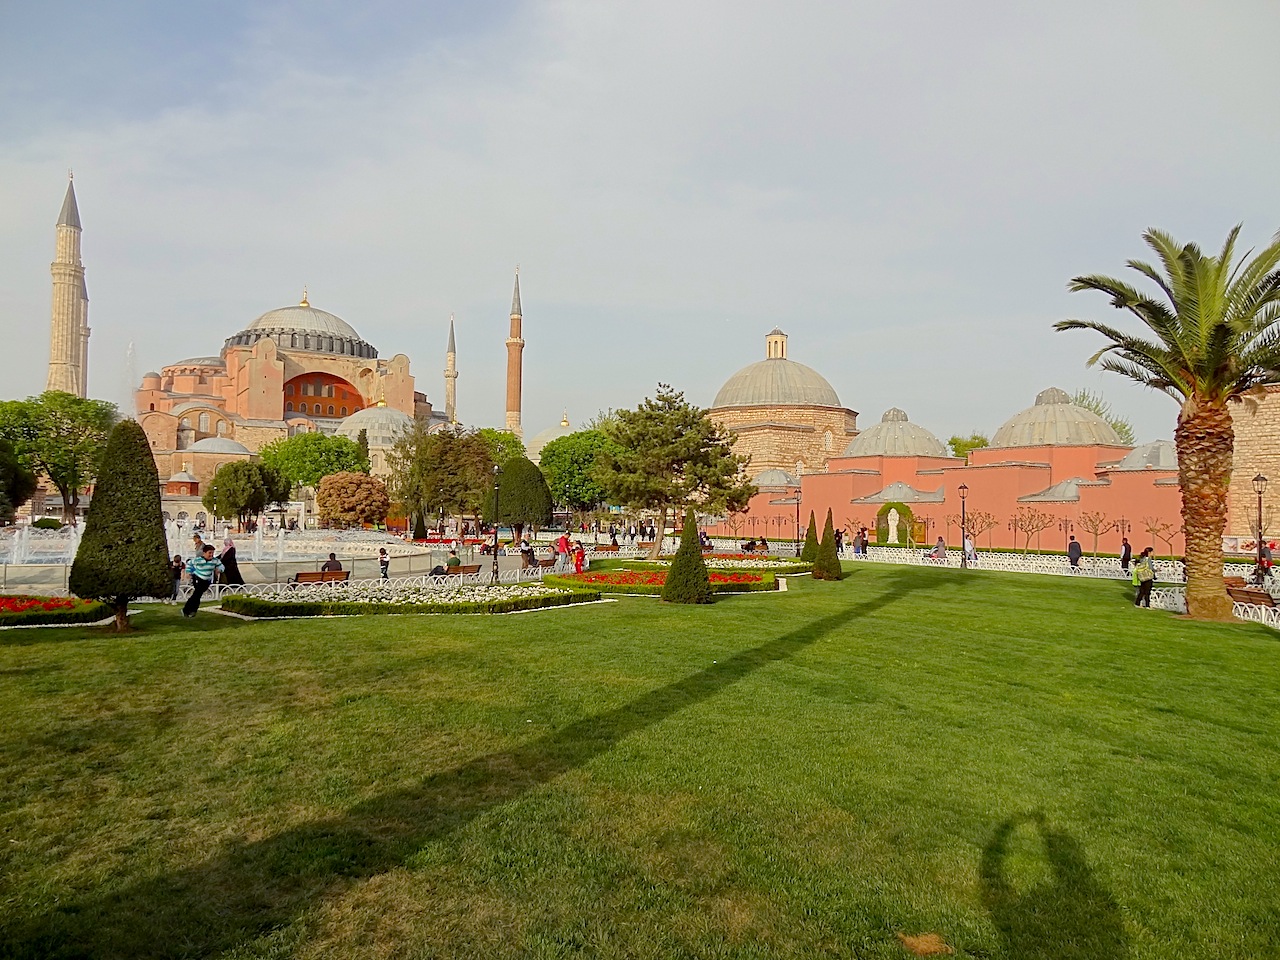
{"label": "round brick-like stone wall beneath the lantern-topped grey dome", "polygon": [[750,476],[822,472],[858,435],[858,415],[845,407],[716,407],[710,417],[737,434],[733,452],[751,457]]}

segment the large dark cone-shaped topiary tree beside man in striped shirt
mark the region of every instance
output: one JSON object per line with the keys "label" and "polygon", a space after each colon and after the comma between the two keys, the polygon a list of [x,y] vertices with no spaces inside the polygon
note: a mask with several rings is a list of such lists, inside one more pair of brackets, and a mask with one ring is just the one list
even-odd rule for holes
{"label": "large dark cone-shaped topiary tree beside man in striped shirt", "polygon": [[68,585],[77,596],[109,604],[123,632],[132,600],[173,589],[156,462],[136,420],[111,430],[97,475]]}

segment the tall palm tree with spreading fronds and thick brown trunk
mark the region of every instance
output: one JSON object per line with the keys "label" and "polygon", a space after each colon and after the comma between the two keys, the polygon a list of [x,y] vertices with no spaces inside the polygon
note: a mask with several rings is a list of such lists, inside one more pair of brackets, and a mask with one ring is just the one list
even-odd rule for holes
{"label": "tall palm tree with spreading fronds and thick brown trunk", "polygon": [[[1280,234],[1251,259],[1235,261],[1236,225],[1222,252],[1206,256],[1194,243],[1167,233],[1143,238],[1164,271],[1130,260],[1128,266],[1153,282],[1147,296],[1110,276],[1076,276],[1075,291],[1101,291],[1111,306],[1128,310],[1155,334],[1134,337],[1093,320],[1060,320],[1059,330],[1097,330],[1110,343],[1089,366],[1121,374],[1180,403],[1178,483],[1183,492],[1187,538],[1187,609],[1198,620],[1230,620],[1222,586],[1222,532],[1226,489],[1231,481],[1235,434],[1229,403],[1253,403],[1267,384],[1280,383]],[[1100,362],[1101,361],[1101,362]]]}

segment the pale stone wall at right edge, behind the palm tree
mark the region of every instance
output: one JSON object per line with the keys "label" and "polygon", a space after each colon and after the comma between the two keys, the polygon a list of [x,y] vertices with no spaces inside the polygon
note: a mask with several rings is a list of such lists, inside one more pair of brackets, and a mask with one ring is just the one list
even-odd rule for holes
{"label": "pale stone wall at right edge, behind the palm tree", "polygon": [[1267,389],[1256,408],[1247,403],[1230,406],[1235,428],[1235,457],[1231,463],[1231,489],[1228,493],[1226,532],[1252,536],[1258,522],[1258,495],[1253,477],[1267,477],[1262,497],[1262,525],[1267,536],[1280,534],[1280,387]]}

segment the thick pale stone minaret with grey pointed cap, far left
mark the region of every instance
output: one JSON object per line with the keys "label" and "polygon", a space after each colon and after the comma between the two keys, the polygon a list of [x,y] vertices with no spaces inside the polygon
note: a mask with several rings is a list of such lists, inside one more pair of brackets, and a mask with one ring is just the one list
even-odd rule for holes
{"label": "thick pale stone minaret with grey pointed cap, far left", "polygon": [[79,253],[79,209],[76,184],[68,178],[63,210],[58,215],[58,246],[54,262],[54,307],[49,338],[46,390],[84,396],[88,379],[88,288]]}

